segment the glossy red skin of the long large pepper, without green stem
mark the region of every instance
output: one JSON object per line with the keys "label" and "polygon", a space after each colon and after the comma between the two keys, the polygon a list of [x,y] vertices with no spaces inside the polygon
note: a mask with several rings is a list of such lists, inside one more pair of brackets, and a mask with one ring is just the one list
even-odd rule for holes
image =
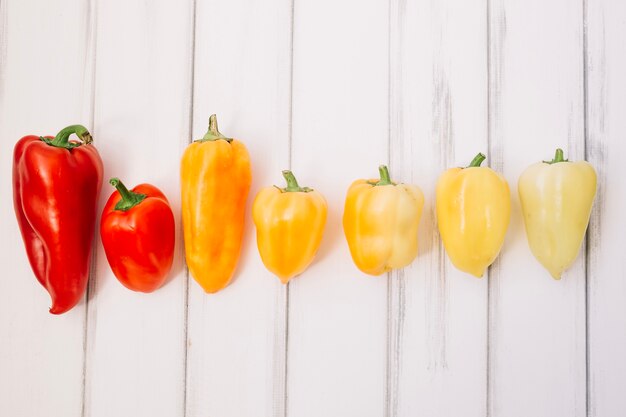
{"label": "glossy red skin of the long large pepper, without green stem", "polygon": [[13,206],[30,265],[52,299],[52,314],[70,310],[87,288],[101,186],[102,160],[93,145],[67,150],[39,136],[15,145]]}

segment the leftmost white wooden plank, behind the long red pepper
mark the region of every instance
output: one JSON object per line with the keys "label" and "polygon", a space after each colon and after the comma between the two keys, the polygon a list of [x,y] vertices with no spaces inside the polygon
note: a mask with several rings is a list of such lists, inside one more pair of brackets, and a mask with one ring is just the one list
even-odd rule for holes
{"label": "leftmost white wooden plank, behind the long red pepper", "polygon": [[[27,134],[91,127],[91,9],[83,1],[0,1],[0,415],[77,417],[85,302],[62,316],[35,279],[13,212],[13,146]],[[99,147],[100,140],[95,138]]]}

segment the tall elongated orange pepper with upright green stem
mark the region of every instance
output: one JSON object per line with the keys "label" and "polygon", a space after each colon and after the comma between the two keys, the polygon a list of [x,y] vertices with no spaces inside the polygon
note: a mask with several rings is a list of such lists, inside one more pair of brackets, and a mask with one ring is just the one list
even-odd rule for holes
{"label": "tall elongated orange pepper with upright green stem", "polygon": [[218,131],[212,115],[206,135],[185,149],[180,173],[187,266],[215,293],[228,285],[239,259],[250,157],[243,143]]}

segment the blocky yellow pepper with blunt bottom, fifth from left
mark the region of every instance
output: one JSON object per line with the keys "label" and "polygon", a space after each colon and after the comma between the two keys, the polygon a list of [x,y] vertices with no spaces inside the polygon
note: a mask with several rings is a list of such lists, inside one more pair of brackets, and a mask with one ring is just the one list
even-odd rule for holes
{"label": "blocky yellow pepper with blunt bottom, fifth from left", "polygon": [[346,196],[343,230],[356,266],[381,275],[417,256],[417,229],[424,207],[419,187],[396,184],[385,165],[380,179],[357,180]]}

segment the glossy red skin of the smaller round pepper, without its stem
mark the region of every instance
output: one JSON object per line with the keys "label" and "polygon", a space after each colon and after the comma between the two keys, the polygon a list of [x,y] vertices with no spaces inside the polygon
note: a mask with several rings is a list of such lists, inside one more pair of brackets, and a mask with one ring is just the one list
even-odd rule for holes
{"label": "glossy red skin of the smaller round pepper, without its stem", "polygon": [[102,245],[117,279],[128,289],[152,292],[163,285],[174,260],[174,213],[165,195],[150,184],[131,191],[147,197],[127,211],[115,210],[114,191],[100,221]]}

